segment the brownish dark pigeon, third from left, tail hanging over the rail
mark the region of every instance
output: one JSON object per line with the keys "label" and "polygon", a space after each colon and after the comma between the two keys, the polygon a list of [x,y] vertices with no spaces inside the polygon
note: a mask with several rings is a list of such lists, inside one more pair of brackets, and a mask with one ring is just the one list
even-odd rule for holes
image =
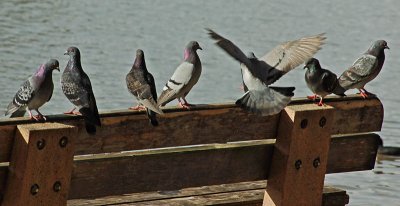
{"label": "brownish dark pigeon, third from left, tail hanging over the rail", "polygon": [[130,109],[138,110],[142,107],[146,108],[147,116],[153,126],[158,126],[156,113],[164,114],[157,106],[157,91],[154,83],[153,75],[146,68],[144,53],[141,49],[136,51],[136,59],[132,69],[126,75],[126,86],[132,93],[139,105]]}

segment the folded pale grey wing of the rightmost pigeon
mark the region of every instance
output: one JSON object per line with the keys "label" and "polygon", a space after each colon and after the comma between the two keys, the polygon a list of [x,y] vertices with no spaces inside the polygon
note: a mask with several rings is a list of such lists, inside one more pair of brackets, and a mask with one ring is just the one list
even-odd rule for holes
{"label": "folded pale grey wing of the rightmost pigeon", "polygon": [[378,59],[375,56],[369,54],[363,55],[339,77],[340,86],[345,89],[350,89],[352,86],[364,81],[373,73],[377,64]]}

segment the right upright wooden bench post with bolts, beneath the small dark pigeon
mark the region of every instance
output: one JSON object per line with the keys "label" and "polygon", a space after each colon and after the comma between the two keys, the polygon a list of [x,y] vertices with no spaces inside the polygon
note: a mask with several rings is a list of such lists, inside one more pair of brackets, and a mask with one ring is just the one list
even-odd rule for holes
{"label": "right upright wooden bench post with bolts, beneath the small dark pigeon", "polygon": [[321,204],[334,115],[331,106],[284,109],[264,206]]}

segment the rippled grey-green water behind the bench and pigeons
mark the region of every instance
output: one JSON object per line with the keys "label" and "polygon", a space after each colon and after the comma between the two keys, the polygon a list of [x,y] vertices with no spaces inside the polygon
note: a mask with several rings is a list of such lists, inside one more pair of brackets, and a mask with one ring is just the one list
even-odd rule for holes
{"label": "rippled grey-green water behind the bench and pigeons", "polygon": [[[244,51],[262,56],[276,44],[326,32],[327,44],[316,57],[336,73],[350,66],[376,39],[391,50],[381,74],[367,89],[385,107],[380,135],[385,145],[400,146],[400,1],[0,1],[0,107],[6,108],[19,85],[41,63],[57,58],[64,68],[67,47],[80,48],[100,110],[131,106],[125,75],[137,48],[144,50],[158,91],[172,75],[190,40],[199,41],[203,74],[188,96],[192,103],[234,101],[241,95],[239,65],[217,48],[203,28],[210,27]],[[41,111],[72,108],[54,73],[55,93]],[[296,69],[276,85],[296,86],[310,94],[304,71]],[[355,92],[355,91],[351,91]],[[328,175],[329,184],[347,189],[350,205],[400,205],[400,159],[377,162],[373,171]]]}

